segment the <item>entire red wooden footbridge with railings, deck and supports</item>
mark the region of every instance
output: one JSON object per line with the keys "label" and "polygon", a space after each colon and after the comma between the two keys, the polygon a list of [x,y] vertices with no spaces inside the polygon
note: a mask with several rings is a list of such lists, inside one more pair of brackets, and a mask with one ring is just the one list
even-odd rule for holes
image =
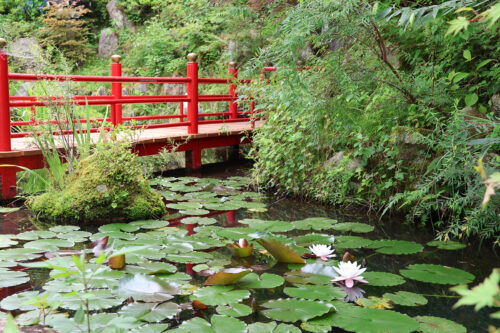
{"label": "entire red wooden footbridge with railings, deck and supports", "polygon": [[[261,110],[254,109],[254,102],[250,102],[248,111],[239,111],[237,106],[237,95],[235,93],[237,84],[246,84],[250,79],[238,79],[238,70],[235,63],[231,63],[228,78],[199,78],[198,63],[196,55],[188,55],[186,77],[125,77],[122,76],[121,58],[113,56],[111,64],[111,76],[81,76],[81,75],[37,75],[17,74],[8,72],[8,56],[3,50],[5,40],[0,39],[0,164],[13,164],[29,169],[40,169],[44,167],[42,152],[33,145],[33,132],[21,131],[23,128],[44,122],[36,120],[36,108],[51,105],[62,105],[72,103],[76,105],[110,105],[111,114],[107,119],[90,119],[92,123],[101,123],[100,127],[90,129],[91,138],[97,140],[99,131],[108,130],[105,122],[112,126],[124,124],[130,121],[144,122],[148,120],[163,120],[163,123],[131,125],[131,128],[141,128],[142,133],[135,140],[134,150],[139,155],[153,155],[160,150],[172,149],[186,152],[186,167],[197,170],[201,167],[201,150],[206,148],[237,146],[248,143],[252,139],[255,127],[261,125],[256,121],[256,116]],[[274,71],[274,67],[266,67],[264,70]],[[263,76],[261,76],[261,79]],[[111,96],[73,96],[64,98],[61,96],[10,96],[10,81],[72,81],[72,82],[103,82],[111,83]],[[186,95],[155,95],[155,96],[122,96],[122,83],[169,83],[187,85]],[[201,95],[198,94],[199,85],[223,84],[228,85],[228,94]],[[183,110],[183,103],[187,102],[187,112]],[[229,112],[198,113],[199,102],[228,102]],[[136,116],[123,117],[123,104],[145,104],[145,103],[179,103],[180,113],[175,115]],[[31,119],[29,121],[12,121],[10,108],[30,108]],[[249,116],[249,117],[247,117]],[[218,117],[222,119],[206,120],[206,117]],[[176,120],[175,122],[170,122]],[[56,120],[48,121],[57,124]],[[74,123],[84,124],[86,119],[75,120]],[[47,121],[45,121],[47,123]],[[86,127],[85,125],[84,127]],[[112,127],[111,126],[111,127]],[[14,129],[14,131],[12,130]],[[85,132],[86,130],[82,130]],[[56,131],[55,134],[71,135],[72,130]],[[95,142],[95,141],[94,141]],[[2,180],[2,197],[12,198],[16,194],[16,172],[19,168],[0,167]]]}

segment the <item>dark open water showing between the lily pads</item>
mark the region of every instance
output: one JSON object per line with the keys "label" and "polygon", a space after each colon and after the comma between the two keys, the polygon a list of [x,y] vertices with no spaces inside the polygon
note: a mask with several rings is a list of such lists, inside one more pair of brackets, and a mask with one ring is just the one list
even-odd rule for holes
{"label": "dark open water showing between the lily pads", "polygon": [[[238,169],[235,169],[234,166],[215,165],[204,168],[201,176],[225,178],[228,175],[244,175],[247,172],[248,166],[246,165],[243,165]],[[169,172],[167,176],[172,175],[180,176],[181,174],[179,172]],[[267,204],[268,211],[265,213],[249,214],[246,210],[238,210],[234,212],[234,215],[232,212],[228,215],[227,212],[221,212],[221,214],[217,216],[217,219],[220,221],[220,224],[227,227],[245,227],[246,225],[239,224],[238,221],[248,218],[250,215],[253,218],[262,220],[283,221],[301,220],[307,217],[329,217],[336,219],[339,222],[361,222],[375,226],[374,231],[359,235],[372,240],[398,239],[414,241],[422,245],[434,240],[432,230],[429,228],[417,227],[414,224],[404,223],[401,218],[386,216],[379,221],[377,216],[367,214],[361,210],[337,209],[287,198],[277,198],[272,195],[268,196]],[[234,221],[232,218],[233,216]],[[25,209],[9,214],[0,214],[0,233],[2,234],[16,234],[32,229],[34,229],[34,227],[30,222],[29,215]],[[301,233],[305,234],[307,232],[292,231],[287,233],[287,236],[299,235]],[[327,232],[321,231],[317,233]],[[335,232],[331,234],[336,235]],[[478,250],[478,244],[469,245],[465,249],[455,251],[437,250],[434,247],[425,246],[423,252],[411,255],[384,255],[375,253],[373,250],[369,249],[353,249],[349,252],[356,257],[355,260],[358,260],[358,262],[361,262],[364,258],[366,259],[367,271],[384,271],[398,274],[400,269],[403,269],[410,264],[440,264],[460,268],[474,274],[476,276],[473,283],[474,285],[477,285],[485,277],[489,276],[492,268],[500,267],[500,261],[497,254],[487,246],[483,246],[480,250]],[[339,256],[341,257],[342,254],[343,253],[338,253],[337,258]],[[280,266],[277,266],[273,268],[273,273],[281,273],[281,275],[283,275],[286,271],[288,271],[286,267],[280,268]],[[37,276],[34,272],[32,275],[31,286],[22,285],[10,288],[1,288],[0,299],[32,287],[36,288],[37,286],[40,286],[43,282],[40,282],[40,280],[43,280],[44,278],[45,274]],[[197,282],[198,280],[203,281],[203,279],[204,278],[201,277],[194,277],[194,281]],[[405,284],[395,287],[373,287],[369,284],[362,285],[361,287],[366,292],[364,297],[381,297],[385,292],[395,292],[399,290],[411,291],[426,296],[428,303],[425,306],[402,307],[395,305],[395,311],[400,311],[410,316],[430,315],[450,319],[467,327],[469,332],[486,332],[488,325],[494,325],[497,327],[500,326],[499,321],[495,321],[489,317],[489,314],[493,312],[491,310],[483,309],[479,312],[475,312],[472,307],[463,306],[453,309],[453,305],[457,302],[458,298],[456,298],[454,296],[455,294],[449,290],[450,286],[448,285],[430,284],[406,279]],[[261,300],[276,298],[276,294],[270,295],[269,293],[270,291],[259,291],[258,297]],[[252,320],[254,319],[255,318]],[[263,317],[259,317],[258,319],[265,321],[265,318]],[[335,329],[335,331],[341,330]]]}

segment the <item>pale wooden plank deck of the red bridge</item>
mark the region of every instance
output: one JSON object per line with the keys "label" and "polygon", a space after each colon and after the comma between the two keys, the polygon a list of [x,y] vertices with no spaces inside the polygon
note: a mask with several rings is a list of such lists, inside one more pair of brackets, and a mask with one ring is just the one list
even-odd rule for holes
{"label": "pale wooden plank deck of the red bridge", "polygon": [[[262,121],[255,122],[255,128],[262,126]],[[189,139],[204,139],[220,136],[240,135],[243,132],[251,133],[252,125],[248,120],[241,122],[228,122],[217,124],[200,124],[198,134],[187,133],[187,126],[153,128],[139,130],[135,143],[148,145],[155,143],[182,142]],[[91,140],[98,141],[100,133],[92,133]],[[13,138],[12,151],[0,152],[0,159],[21,156],[41,155],[41,150],[36,146],[32,137]]]}

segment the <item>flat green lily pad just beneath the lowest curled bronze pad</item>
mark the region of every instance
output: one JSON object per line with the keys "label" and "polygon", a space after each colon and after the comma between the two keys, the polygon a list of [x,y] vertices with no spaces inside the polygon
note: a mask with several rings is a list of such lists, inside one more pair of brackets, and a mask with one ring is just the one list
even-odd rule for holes
{"label": "flat green lily pad just beneath the lowest curled bronze pad", "polygon": [[191,300],[198,300],[206,305],[226,305],[239,303],[248,298],[248,290],[233,290],[234,286],[210,286],[196,290],[191,295]]}

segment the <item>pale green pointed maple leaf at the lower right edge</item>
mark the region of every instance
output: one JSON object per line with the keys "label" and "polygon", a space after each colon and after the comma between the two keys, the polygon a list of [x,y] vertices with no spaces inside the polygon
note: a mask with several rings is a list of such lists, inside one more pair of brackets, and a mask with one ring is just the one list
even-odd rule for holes
{"label": "pale green pointed maple leaf at the lower right edge", "polygon": [[474,305],[474,309],[478,311],[485,306],[492,307],[496,297],[500,295],[500,269],[494,269],[489,277],[470,290],[464,285],[453,287],[451,290],[462,296],[454,305],[455,308],[462,305]]}

